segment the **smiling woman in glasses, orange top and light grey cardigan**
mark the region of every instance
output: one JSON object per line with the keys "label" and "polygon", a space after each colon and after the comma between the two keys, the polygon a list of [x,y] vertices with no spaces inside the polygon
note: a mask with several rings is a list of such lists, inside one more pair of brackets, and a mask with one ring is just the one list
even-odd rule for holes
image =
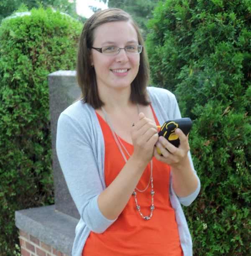
{"label": "smiling woman in glasses, orange top and light grey cardigan", "polygon": [[146,87],[146,52],[128,13],[86,21],[77,77],[82,99],[61,113],[56,140],[81,216],[72,255],[192,255],[181,204],[192,203],[200,181],[187,136],[175,131],[179,148],[158,136],[179,107],[171,92]]}

